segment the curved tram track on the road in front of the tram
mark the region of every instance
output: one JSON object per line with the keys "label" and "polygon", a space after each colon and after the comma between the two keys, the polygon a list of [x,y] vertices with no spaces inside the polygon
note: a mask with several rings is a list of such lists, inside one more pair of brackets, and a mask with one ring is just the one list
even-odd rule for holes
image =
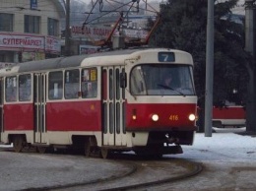
{"label": "curved tram track on the road in front of the tram", "polygon": [[[197,175],[203,169],[201,163],[185,159],[109,159],[109,161],[118,162],[125,166],[129,165],[129,170],[123,174],[112,174],[109,177],[98,178],[93,181],[73,182],[40,188],[28,188],[25,190],[135,190],[180,181]],[[173,173],[171,173],[171,170]]]}

